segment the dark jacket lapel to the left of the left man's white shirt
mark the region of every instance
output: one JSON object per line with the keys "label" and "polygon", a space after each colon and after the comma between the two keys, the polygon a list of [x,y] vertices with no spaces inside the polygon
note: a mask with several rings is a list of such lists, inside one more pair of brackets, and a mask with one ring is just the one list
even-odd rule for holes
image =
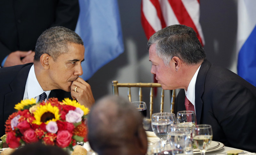
{"label": "dark jacket lapel to the left of the left man's white shirt", "polygon": [[[23,99],[28,73],[31,66],[32,64],[21,68],[15,79],[10,83],[10,88],[8,88],[10,89],[10,92],[4,97],[4,112],[6,114],[9,113],[8,116],[14,111],[15,104],[19,103]],[[4,116],[6,116],[6,114]]]}

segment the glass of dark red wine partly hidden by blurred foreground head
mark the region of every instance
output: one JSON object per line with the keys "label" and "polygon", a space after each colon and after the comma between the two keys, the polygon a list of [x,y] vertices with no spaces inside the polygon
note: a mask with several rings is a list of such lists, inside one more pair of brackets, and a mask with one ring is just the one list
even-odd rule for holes
{"label": "glass of dark red wine partly hidden by blurred foreground head", "polygon": [[148,130],[151,124],[151,119],[147,118],[147,106],[145,102],[132,102],[132,105],[135,106],[135,108],[140,112],[140,114],[143,116],[143,128],[145,130]]}

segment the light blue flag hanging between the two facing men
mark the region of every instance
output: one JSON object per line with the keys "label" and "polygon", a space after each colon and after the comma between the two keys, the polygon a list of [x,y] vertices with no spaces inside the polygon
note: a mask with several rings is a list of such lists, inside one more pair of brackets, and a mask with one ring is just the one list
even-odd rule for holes
{"label": "light blue flag hanging between the two facing men", "polygon": [[117,0],[79,0],[80,14],[76,33],[84,41],[85,81],[124,52]]}

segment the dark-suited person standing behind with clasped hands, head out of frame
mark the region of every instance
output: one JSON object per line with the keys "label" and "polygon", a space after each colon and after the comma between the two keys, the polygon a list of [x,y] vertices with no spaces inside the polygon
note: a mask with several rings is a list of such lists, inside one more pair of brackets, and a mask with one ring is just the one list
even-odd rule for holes
{"label": "dark-suited person standing behind with clasped hands, head out of frame", "polygon": [[3,0],[0,2],[0,65],[33,62],[36,40],[46,29],[63,26],[75,31],[78,0]]}

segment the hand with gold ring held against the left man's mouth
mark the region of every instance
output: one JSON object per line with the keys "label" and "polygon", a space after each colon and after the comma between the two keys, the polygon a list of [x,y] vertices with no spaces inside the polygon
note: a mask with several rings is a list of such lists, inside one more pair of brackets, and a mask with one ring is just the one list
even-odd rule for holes
{"label": "hand with gold ring held against the left man's mouth", "polygon": [[76,99],[81,105],[84,105],[89,109],[91,108],[95,100],[92,95],[91,86],[87,82],[78,77],[75,81],[73,81],[70,89],[73,99]]}

